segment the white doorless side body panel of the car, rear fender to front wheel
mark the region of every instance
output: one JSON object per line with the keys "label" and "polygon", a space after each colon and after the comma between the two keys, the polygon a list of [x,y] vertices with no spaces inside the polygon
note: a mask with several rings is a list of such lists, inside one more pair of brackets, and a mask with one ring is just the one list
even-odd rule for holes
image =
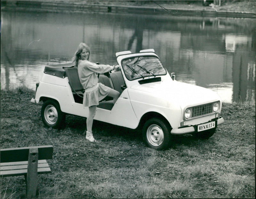
{"label": "white doorless side body panel of the car, rear fender to front wheel", "polygon": [[[39,82],[35,97],[36,103],[39,103],[41,97],[52,98],[59,102],[62,112],[88,117],[89,108],[84,107],[81,103],[75,102],[70,85],[68,84],[68,78],[61,79],[51,76],[52,80],[47,76],[49,75],[44,75],[44,78],[42,78],[43,81],[41,80]],[[44,82],[46,80],[51,80],[51,83]],[[127,90],[122,92],[111,111],[97,108],[94,119],[133,129],[139,124],[132,109]]]}

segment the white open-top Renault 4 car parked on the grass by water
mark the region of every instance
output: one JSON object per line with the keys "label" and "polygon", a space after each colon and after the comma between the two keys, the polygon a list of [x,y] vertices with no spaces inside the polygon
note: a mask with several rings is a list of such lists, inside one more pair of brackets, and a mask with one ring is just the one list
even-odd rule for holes
{"label": "white open-top Renault 4 car parked on the grass by water", "polygon": [[[116,57],[120,70],[100,74],[99,82],[121,95],[115,104],[113,98],[103,99],[94,119],[142,129],[147,146],[157,150],[169,147],[172,135],[194,134],[208,139],[224,122],[220,96],[207,88],[176,81],[153,49],[117,52]],[[82,104],[83,93],[72,63],[45,66],[31,102],[43,101],[44,124],[58,128],[66,114],[88,116],[89,109]]]}

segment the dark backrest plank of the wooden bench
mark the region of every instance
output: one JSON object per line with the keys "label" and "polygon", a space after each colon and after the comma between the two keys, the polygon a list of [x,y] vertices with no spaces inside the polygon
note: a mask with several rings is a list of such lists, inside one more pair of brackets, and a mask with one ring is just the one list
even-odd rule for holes
{"label": "dark backrest plank of the wooden bench", "polygon": [[38,149],[38,160],[52,159],[53,146],[36,146],[36,147],[22,147],[10,148],[0,150],[0,162],[20,162],[28,161],[29,149]]}

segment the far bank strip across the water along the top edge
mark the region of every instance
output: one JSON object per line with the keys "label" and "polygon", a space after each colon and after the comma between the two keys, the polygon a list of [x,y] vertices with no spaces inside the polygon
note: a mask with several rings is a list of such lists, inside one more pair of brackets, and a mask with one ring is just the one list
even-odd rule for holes
{"label": "far bank strip across the water along the top edge", "polygon": [[1,11],[151,13],[174,16],[255,18],[255,0],[221,0],[221,5],[204,6],[203,1],[1,1]]}

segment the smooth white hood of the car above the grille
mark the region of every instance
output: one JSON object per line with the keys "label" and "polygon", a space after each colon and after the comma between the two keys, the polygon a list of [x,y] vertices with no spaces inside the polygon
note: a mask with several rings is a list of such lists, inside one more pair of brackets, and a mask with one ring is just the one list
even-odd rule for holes
{"label": "smooth white hood of the car above the grille", "polygon": [[132,89],[148,92],[169,103],[178,103],[181,108],[220,100],[220,96],[210,89],[176,80],[133,85]]}

